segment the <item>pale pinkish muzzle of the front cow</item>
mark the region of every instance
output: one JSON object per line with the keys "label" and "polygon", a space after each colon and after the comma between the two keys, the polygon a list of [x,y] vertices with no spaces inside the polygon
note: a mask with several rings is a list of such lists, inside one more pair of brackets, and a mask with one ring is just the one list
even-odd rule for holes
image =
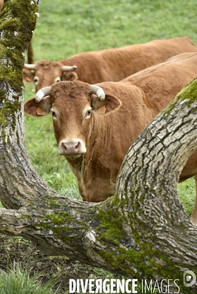
{"label": "pale pinkish muzzle of the front cow", "polygon": [[68,158],[77,158],[86,152],[84,141],[81,139],[65,139],[59,143],[58,153]]}

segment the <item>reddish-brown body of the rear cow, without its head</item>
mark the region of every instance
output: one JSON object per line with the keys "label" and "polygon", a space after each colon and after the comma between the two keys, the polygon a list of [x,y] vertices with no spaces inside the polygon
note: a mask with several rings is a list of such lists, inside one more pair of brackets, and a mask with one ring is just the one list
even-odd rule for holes
{"label": "reddish-brown body of the rear cow, without its head", "polygon": [[76,64],[78,79],[95,84],[120,81],[185,52],[197,52],[197,47],[188,37],[176,37],[116,49],[78,53],[60,62],[69,66]]}

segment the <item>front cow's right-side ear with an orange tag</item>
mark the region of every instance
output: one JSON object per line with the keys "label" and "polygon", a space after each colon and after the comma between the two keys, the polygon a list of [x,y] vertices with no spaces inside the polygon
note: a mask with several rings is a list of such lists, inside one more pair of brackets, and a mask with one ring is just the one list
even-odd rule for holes
{"label": "front cow's right-side ear with an orange tag", "polygon": [[92,96],[92,109],[96,113],[100,114],[108,114],[115,110],[122,105],[122,102],[113,95],[106,95],[105,100],[101,101],[95,95]]}

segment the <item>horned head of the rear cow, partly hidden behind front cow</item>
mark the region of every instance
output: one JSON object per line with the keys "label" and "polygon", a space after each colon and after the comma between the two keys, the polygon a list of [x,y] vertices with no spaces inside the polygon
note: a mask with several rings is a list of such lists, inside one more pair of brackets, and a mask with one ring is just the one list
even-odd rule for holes
{"label": "horned head of the rear cow, partly hidden behind front cow", "polygon": [[77,66],[62,65],[56,61],[40,61],[36,64],[26,64],[24,68],[33,71],[33,81],[36,92],[44,87],[51,86],[59,81],[73,81],[78,79],[76,70]]}

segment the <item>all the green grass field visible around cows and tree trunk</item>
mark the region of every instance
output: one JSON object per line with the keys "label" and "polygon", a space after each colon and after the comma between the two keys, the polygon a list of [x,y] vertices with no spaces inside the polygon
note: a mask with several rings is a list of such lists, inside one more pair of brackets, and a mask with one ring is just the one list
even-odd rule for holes
{"label": "all the green grass field visible around cows and tree trunk", "polygon": [[[116,48],[175,36],[189,36],[197,44],[196,11],[197,2],[194,0],[41,0],[40,17],[33,33],[35,61],[60,60],[78,52]],[[34,85],[26,83],[25,100],[34,95]],[[81,199],[75,177],[65,159],[57,153],[50,116],[39,120],[25,117],[25,143],[31,163],[41,177],[61,194]],[[194,179],[179,184],[178,191],[185,211],[190,215],[195,200]],[[11,248],[12,241],[6,240],[5,248],[6,242],[9,244],[7,247]],[[13,238],[13,244],[17,240]],[[27,248],[29,246],[31,245],[28,244]],[[33,255],[29,256],[34,260]],[[61,274],[64,264],[62,260],[56,266]],[[39,267],[37,268],[39,272]],[[79,266],[70,267],[71,271],[77,272],[76,268],[79,269]],[[103,270],[95,273],[89,268],[83,269],[86,272],[83,275],[80,271],[83,277],[114,277]],[[69,270],[63,276],[55,276],[62,280],[66,274],[69,274]],[[62,289],[61,293],[68,293]]]}

